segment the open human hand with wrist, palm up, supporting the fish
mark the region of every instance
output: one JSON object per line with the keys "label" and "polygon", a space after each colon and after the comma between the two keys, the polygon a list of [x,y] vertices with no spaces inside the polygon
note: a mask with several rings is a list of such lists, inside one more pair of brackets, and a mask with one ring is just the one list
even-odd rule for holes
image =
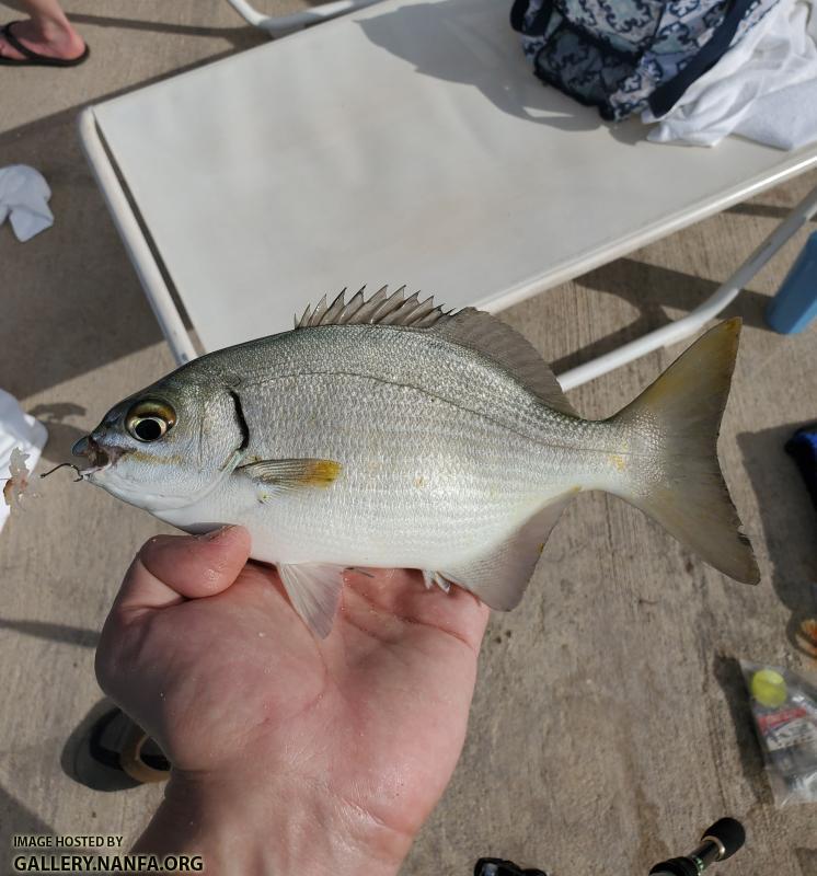
{"label": "open human hand with wrist, palm up, supporting the fish", "polygon": [[318,641],[249,533],[139,552],[96,653],[173,764],[138,848],[208,873],[396,873],[462,749],[488,610],[418,573],[347,570]]}

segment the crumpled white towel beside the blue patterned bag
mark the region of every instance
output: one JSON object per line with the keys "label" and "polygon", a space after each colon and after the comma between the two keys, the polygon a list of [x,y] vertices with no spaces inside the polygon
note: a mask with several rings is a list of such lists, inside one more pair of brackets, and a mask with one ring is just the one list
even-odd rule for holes
{"label": "crumpled white towel beside the blue patterned bag", "polygon": [[716,146],[739,134],[779,149],[817,140],[817,13],[781,0],[661,119],[654,142]]}

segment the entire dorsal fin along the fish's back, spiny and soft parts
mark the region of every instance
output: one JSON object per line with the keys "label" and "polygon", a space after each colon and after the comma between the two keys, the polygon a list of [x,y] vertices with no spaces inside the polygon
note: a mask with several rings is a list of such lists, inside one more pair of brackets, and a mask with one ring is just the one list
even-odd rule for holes
{"label": "entire dorsal fin along the fish's back, spiny and soft parts", "polygon": [[549,407],[577,417],[550,366],[536,347],[519,332],[496,316],[482,310],[464,308],[452,313],[436,307],[433,298],[419,300],[419,292],[404,297],[401,286],[392,295],[383,286],[364,300],[364,286],[348,304],[344,303],[344,289],[327,307],[324,296],[318,307],[307,308],[296,318],[295,327],[314,328],[318,325],[400,325],[406,328],[429,328],[463,347],[470,347],[509,371]]}

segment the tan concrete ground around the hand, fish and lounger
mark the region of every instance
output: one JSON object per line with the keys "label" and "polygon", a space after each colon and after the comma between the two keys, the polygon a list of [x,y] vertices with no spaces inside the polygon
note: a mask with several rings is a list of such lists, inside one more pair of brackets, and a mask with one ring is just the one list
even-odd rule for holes
{"label": "tan concrete ground around the hand, fish and lounger", "polygon": [[[80,153],[79,108],[264,42],[218,0],[67,9],[89,64],[0,68],[0,166],[38,168],[57,217],[25,245],[0,229],[0,387],[47,424],[44,465],[172,366]],[[0,21],[18,11],[0,3]],[[812,173],[504,316],[564,370],[694,306],[815,184]],[[782,450],[817,419],[817,330],[781,337],[762,315],[805,234],[729,309],[745,331],[721,453],[760,586],[725,579],[617,499],[579,496],[525,604],[492,620],[465,751],[406,876],[465,876],[484,854],[557,876],[646,873],[726,814],[745,820],[749,841],[724,874],[817,876],[817,808],[772,805],[736,662],[817,671],[796,638],[817,614],[817,517]],[[576,406],[611,414],[679,349],[582,388]],[[42,492],[0,537],[2,872],[12,833],[131,841],[161,794],[92,791],[66,772],[67,740],[101,700],[97,632],[134,552],[161,527],[68,476]]]}

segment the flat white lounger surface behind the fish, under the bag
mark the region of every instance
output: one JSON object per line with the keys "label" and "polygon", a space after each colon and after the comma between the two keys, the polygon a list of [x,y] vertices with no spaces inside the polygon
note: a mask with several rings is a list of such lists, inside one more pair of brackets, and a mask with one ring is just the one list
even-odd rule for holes
{"label": "flat white lounger surface behind the fish, under the bag", "polygon": [[817,163],[601,123],[509,5],[390,0],[93,107],[206,349],[344,286],[497,310]]}

